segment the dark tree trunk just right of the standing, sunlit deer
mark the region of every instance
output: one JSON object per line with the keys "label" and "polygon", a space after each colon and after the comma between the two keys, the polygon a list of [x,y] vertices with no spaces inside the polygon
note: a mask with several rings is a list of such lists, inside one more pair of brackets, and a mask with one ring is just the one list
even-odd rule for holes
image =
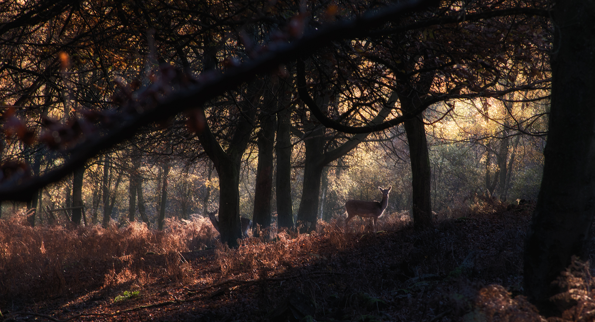
{"label": "dark tree trunk just right of the standing, sunlit deer", "polygon": [[[415,109],[417,96],[413,99],[399,96],[404,111]],[[412,214],[416,228],[433,226],[431,201],[431,168],[428,155],[428,141],[425,137],[425,127],[422,115],[403,122],[407,141],[409,143],[409,157],[411,158],[411,186],[412,186]]]}

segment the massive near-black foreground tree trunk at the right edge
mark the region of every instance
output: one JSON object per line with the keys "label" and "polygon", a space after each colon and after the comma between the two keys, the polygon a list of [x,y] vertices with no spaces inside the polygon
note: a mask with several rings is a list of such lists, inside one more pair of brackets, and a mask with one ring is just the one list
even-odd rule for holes
{"label": "massive near-black foreground tree trunk at the right edge", "polygon": [[524,289],[542,314],[558,314],[551,282],[586,255],[595,213],[595,2],[553,9],[552,102],[543,179],[525,241]]}

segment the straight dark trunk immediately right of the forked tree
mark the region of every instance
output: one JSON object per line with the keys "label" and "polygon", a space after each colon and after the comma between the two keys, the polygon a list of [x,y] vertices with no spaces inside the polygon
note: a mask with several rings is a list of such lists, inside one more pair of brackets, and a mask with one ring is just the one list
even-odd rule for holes
{"label": "straight dark trunk immediately right of the forked tree", "polygon": [[[273,195],[273,147],[275,141],[275,116],[267,115],[261,120],[258,133],[258,169],[254,189],[252,222],[269,228],[271,226],[271,197]],[[258,229],[253,225],[255,236]]]}

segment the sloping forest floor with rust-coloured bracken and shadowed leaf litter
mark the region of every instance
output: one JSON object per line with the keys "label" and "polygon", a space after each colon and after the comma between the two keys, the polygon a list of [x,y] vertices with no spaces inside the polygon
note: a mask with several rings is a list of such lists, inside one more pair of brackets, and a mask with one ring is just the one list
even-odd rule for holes
{"label": "sloping forest floor with rust-coloured bracken and shadowed leaf litter", "polygon": [[517,296],[533,207],[483,204],[421,231],[386,215],[375,234],[340,219],[237,250],[206,219],[158,232],[13,216],[0,220],[0,321],[543,321]]}

